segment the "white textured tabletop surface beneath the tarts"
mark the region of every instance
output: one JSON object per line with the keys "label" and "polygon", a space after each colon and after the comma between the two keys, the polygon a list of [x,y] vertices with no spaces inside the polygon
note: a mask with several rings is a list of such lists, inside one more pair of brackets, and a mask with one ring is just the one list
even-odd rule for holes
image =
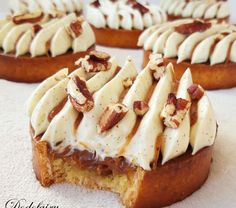
{"label": "white textured tabletop surface beneath the tarts", "polygon": [[[132,56],[140,69],[141,50],[105,50],[116,55],[120,64],[127,55]],[[31,202],[37,206],[43,201],[44,205],[59,208],[122,207],[117,195],[109,192],[69,184],[50,188],[39,185],[32,170],[31,141],[24,106],[36,86],[0,80],[0,207],[5,207],[12,198],[25,199],[24,206]],[[172,208],[236,207],[236,88],[210,91],[208,95],[219,124],[211,172],[199,191]]]}

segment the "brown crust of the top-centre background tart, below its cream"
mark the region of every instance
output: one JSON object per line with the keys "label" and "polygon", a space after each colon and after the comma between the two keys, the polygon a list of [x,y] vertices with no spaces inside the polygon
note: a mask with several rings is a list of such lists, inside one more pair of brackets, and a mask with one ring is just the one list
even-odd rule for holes
{"label": "brown crust of the top-centre background tart, below its cream", "polygon": [[[92,26],[92,25],[91,25]],[[99,45],[117,48],[139,48],[137,46],[142,30],[124,30],[110,28],[96,28],[92,26]]]}

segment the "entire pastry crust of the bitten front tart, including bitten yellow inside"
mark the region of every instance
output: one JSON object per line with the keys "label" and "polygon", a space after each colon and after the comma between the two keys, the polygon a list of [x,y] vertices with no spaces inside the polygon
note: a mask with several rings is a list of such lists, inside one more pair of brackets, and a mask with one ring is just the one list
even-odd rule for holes
{"label": "entire pastry crust of the bitten front tart, including bitten yellow inside", "polygon": [[93,170],[78,167],[73,156],[54,157],[45,141],[32,139],[33,167],[42,186],[69,182],[92,189],[113,191],[126,207],[163,207],[183,200],[199,189],[208,177],[213,147],[196,155],[187,151],[165,165],[145,171],[136,168],[128,173],[101,176]]}

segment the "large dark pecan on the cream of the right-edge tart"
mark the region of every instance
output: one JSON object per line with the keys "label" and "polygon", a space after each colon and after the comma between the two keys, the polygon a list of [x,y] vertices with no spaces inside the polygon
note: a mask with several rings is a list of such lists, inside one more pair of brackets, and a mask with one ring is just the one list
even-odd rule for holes
{"label": "large dark pecan on the cream of the right-edge tart", "polygon": [[210,22],[194,20],[191,23],[182,24],[175,27],[175,31],[184,35],[191,35],[195,32],[204,32],[211,27]]}

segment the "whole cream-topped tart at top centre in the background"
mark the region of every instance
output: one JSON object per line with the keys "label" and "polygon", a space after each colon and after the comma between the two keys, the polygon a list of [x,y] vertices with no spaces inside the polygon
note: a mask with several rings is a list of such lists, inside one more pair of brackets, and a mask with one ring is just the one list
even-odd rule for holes
{"label": "whole cream-topped tart at top centre in the background", "polygon": [[100,45],[137,48],[141,32],[154,24],[166,21],[158,6],[135,0],[95,0],[85,9]]}

